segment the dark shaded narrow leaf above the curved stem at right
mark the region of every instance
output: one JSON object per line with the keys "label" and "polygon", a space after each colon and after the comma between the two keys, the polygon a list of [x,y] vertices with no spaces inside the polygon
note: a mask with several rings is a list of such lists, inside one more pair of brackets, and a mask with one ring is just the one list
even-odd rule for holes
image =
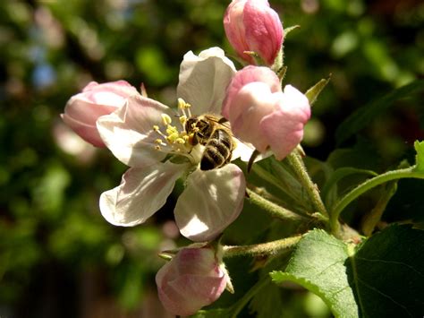
{"label": "dark shaded narrow leaf above the curved stem at right", "polygon": [[340,145],[353,134],[358,133],[362,128],[369,125],[376,116],[386,112],[389,107],[393,106],[394,101],[419,93],[423,90],[424,80],[411,82],[397,90],[393,90],[380,99],[373,100],[369,104],[360,107],[337,127],[337,130],[335,131],[335,140],[337,145]]}

